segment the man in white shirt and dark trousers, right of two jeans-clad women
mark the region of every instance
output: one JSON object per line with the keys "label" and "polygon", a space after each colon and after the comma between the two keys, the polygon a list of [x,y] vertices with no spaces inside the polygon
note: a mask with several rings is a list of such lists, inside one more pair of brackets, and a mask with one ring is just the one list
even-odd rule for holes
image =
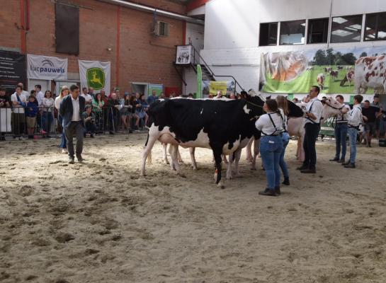
{"label": "man in white shirt and dark trousers, right of two jeans-clad women", "polygon": [[315,143],[320,130],[320,120],[322,119],[323,104],[317,99],[319,86],[312,86],[310,89],[310,102],[306,106],[305,112],[305,139],[303,149],[305,150],[305,161],[298,167],[301,173],[316,173],[317,151]]}

